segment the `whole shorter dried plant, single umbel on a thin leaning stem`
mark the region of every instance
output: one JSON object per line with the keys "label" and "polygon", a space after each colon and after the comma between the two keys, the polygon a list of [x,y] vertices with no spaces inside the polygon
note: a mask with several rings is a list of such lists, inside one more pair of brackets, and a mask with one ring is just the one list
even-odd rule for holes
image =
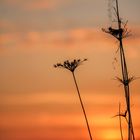
{"label": "whole shorter dried plant, single umbel on a thin leaning stem", "polygon": [[85,121],[86,121],[87,129],[88,129],[89,137],[90,137],[90,140],[93,140],[92,134],[91,134],[91,130],[90,130],[90,126],[89,126],[89,122],[88,122],[88,118],[87,118],[87,115],[86,115],[84,104],[83,104],[83,101],[82,101],[82,98],[81,98],[81,94],[80,94],[80,91],[79,91],[79,87],[78,87],[78,84],[77,84],[77,81],[76,81],[76,77],[75,77],[75,70],[76,70],[76,68],[78,66],[80,66],[81,64],[83,64],[84,61],[87,61],[87,59],[83,59],[83,60],[81,60],[81,59],[74,59],[73,61],[66,60],[63,63],[55,64],[54,67],[55,68],[64,68],[66,70],[69,70],[72,73],[72,76],[73,76],[73,79],[74,79],[74,83],[75,83],[75,86],[76,86],[76,90],[77,90],[77,93],[78,93],[78,97],[79,97],[79,100],[80,100],[80,104],[81,104],[81,107],[82,107],[82,110],[83,110],[83,114],[84,114],[84,117],[85,117]]}

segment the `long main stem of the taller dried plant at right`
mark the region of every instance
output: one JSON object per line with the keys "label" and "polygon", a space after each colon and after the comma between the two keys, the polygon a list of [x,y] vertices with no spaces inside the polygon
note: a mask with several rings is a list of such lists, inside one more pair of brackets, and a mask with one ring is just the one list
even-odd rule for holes
{"label": "long main stem of the taller dried plant at right", "polygon": [[[122,22],[119,16],[118,0],[116,0],[116,10],[117,10],[117,18],[118,18],[118,29],[121,30]],[[131,117],[131,109],[130,109],[131,101],[130,101],[129,77],[128,77],[122,39],[123,39],[122,32],[120,32],[119,33],[120,59],[121,59],[122,77],[124,81],[124,91],[125,91],[125,98],[126,98],[126,105],[127,105],[127,112],[128,112],[128,140],[132,140],[132,136],[133,136],[133,140],[135,140],[132,117]],[[125,82],[127,82],[127,84]]]}

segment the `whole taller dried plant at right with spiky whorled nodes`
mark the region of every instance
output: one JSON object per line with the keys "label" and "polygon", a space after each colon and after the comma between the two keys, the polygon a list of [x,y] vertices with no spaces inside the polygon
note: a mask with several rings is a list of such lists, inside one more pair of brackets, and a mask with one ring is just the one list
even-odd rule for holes
{"label": "whole taller dried plant at right with spiky whorled nodes", "polygon": [[[125,99],[126,99],[126,117],[128,120],[128,140],[135,140],[134,136],[134,130],[133,130],[133,123],[132,123],[132,115],[131,115],[131,100],[130,100],[130,82],[132,82],[135,78],[129,77],[128,70],[127,70],[127,64],[126,64],[126,58],[125,58],[125,51],[123,47],[123,39],[131,35],[131,31],[127,28],[127,23],[123,22],[122,18],[120,18],[119,14],[119,6],[118,6],[118,0],[110,0],[115,2],[115,6],[113,4],[111,5],[113,9],[113,16],[114,19],[112,22],[114,22],[117,25],[117,28],[108,27],[107,29],[102,29],[105,33],[110,34],[111,36],[115,37],[117,41],[119,42],[119,53],[120,53],[120,61],[121,61],[121,70],[122,70],[122,78],[118,78],[117,80],[123,84],[124,86],[124,93],[125,93]],[[123,116],[122,114],[119,116]]]}

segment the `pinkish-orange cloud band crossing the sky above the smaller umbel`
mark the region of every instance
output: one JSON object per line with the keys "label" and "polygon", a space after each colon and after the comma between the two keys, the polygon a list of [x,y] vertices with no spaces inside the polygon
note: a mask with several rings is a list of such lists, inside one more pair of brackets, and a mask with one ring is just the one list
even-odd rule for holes
{"label": "pinkish-orange cloud band crossing the sky above the smaller umbel", "polygon": [[[3,26],[3,25],[2,25]],[[115,39],[111,36],[103,33],[97,28],[76,28],[63,31],[50,31],[50,32],[11,32],[3,33],[0,35],[0,44],[3,47],[17,46],[17,47],[65,47],[65,48],[77,48],[77,47],[99,47],[104,50],[109,49],[114,43]],[[136,35],[125,39],[126,46],[138,46],[140,40],[140,31],[136,32]]]}

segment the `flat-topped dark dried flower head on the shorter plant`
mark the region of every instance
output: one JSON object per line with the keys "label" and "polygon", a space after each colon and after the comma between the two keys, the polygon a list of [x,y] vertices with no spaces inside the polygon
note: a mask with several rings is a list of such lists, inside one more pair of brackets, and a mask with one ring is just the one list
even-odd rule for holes
{"label": "flat-topped dark dried flower head on the shorter plant", "polygon": [[70,70],[71,72],[74,72],[74,70],[81,65],[84,61],[87,61],[87,59],[74,59],[73,61],[66,60],[63,63],[57,63],[54,65],[55,68],[65,68],[67,70]]}

